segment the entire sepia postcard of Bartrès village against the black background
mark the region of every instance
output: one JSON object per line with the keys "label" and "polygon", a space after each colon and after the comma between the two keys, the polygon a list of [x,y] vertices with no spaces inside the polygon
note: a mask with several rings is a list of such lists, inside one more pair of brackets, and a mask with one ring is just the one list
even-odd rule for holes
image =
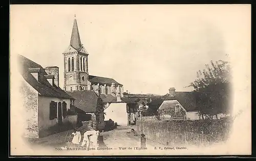
{"label": "entire sepia postcard of Bartr\u00e8s village against the black background", "polygon": [[10,5],[10,155],[251,154],[250,5]]}

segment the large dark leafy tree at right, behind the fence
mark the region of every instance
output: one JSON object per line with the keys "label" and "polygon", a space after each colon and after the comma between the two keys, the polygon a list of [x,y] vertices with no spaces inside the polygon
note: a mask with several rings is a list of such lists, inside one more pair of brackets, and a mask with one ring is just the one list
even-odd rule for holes
{"label": "large dark leafy tree at right, behind the fence", "polygon": [[193,87],[201,114],[217,116],[230,112],[230,65],[226,61],[210,62],[206,69],[197,72],[197,79],[188,87]]}

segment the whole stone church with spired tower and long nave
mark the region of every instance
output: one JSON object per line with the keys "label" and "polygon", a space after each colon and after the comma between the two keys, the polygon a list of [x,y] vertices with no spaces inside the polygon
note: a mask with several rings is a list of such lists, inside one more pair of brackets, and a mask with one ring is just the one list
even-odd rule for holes
{"label": "whole stone church with spired tower and long nave", "polygon": [[64,56],[64,87],[65,91],[94,90],[98,95],[123,97],[123,85],[113,78],[89,75],[89,53],[83,47],[76,18],[74,19],[70,45]]}

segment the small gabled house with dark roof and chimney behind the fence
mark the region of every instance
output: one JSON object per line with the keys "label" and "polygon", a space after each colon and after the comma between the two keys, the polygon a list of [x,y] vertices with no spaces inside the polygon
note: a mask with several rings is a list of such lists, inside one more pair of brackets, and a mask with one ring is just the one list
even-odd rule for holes
{"label": "small gabled house with dark roof and chimney behind the fence", "polygon": [[199,120],[201,117],[193,93],[176,92],[175,88],[170,88],[164,96],[158,113],[164,119]]}

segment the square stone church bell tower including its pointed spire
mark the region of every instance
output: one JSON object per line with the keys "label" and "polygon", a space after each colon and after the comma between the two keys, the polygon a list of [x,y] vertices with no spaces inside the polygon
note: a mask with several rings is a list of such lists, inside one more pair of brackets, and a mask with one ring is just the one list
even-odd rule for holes
{"label": "square stone church bell tower including its pointed spire", "polygon": [[65,91],[88,90],[88,55],[81,44],[75,16],[70,45],[63,52]]}

